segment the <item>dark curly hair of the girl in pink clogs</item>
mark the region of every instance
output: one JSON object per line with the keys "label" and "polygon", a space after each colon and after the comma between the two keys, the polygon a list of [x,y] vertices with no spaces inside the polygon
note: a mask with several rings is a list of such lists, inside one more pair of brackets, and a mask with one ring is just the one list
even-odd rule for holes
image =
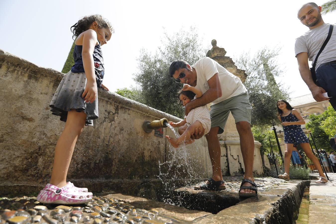
{"label": "dark curly hair of the girl in pink clogs", "polygon": [[72,36],[72,39],[74,39],[74,37],[78,37],[78,35],[80,35],[84,31],[87,31],[94,21],[98,23],[98,29],[110,28],[111,32],[114,33],[114,29],[111,23],[106,18],[102,17],[99,14],[88,15],[78,20],[78,22],[70,28],[71,32],[74,34]]}

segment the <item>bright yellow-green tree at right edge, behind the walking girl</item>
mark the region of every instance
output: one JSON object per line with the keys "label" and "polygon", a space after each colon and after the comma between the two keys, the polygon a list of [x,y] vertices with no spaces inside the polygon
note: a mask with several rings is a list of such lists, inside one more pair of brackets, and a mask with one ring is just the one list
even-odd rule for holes
{"label": "bright yellow-green tree at right edge, behind the walking girl", "polygon": [[336,127],[336,112],[329,106],[320,115],[310,115],[306,128],[310,129],[318,149],[330,149],[329,139],[334,137]]}

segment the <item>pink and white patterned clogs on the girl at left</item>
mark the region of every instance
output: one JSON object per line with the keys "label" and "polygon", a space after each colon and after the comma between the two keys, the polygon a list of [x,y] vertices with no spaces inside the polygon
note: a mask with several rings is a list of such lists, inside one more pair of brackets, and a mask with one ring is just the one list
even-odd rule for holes
{"label": "pink and white patterned clogs on the girl at left", "polygon": [[91,199],[91,192],[79,192],[68,185],[59,188],[52,184],[47,184],[36,197],[40,203],[63,205],[88,203]]}

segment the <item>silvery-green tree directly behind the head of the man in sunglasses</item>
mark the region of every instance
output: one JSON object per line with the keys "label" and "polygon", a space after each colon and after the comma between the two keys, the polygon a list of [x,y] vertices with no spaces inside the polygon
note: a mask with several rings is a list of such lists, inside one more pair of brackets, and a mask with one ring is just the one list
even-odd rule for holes
{"label": "silvery-green tree directly behind the head of the man in sunglasses", "polygon": [[205,57],[205,48],[196,29],[180,31],[169,36],[164,33],[162,47],[155,54],[142,49],[138,58],[138,72],[134,81],[141,89],[141,103],[164,111],[176,117],[184,117],[184,108],[178,104],[177,92],[182,84],[168,76],[171,62],[176,59],[187,61],[190,65]]}

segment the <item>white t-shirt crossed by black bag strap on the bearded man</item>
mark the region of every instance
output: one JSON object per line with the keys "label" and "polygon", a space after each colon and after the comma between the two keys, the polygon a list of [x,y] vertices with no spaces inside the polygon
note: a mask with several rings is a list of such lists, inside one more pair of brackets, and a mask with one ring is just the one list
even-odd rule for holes
{"label": "white t-shirt crossed by black bag strap on the bearded man", "polygon": [[[308,60],[314,62],[324,41],[327,39],[330,24],[323,24],[312,30],[308,30],[295,40],[295,57],[298,53],[307,52]],[[336,60],[336,24],[330,40],[317,59],[315,71],[322,63]]]}

